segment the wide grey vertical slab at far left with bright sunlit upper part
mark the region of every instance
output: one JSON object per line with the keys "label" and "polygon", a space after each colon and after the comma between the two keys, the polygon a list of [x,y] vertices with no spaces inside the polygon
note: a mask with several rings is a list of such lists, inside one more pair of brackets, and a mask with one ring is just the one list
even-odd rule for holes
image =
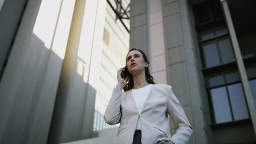
{"label": "wide grey vertical slab at far left with bright sunlit upper part", "polygon": [[74,1],[28,1],[0,83],[0,143],[46,143]]}

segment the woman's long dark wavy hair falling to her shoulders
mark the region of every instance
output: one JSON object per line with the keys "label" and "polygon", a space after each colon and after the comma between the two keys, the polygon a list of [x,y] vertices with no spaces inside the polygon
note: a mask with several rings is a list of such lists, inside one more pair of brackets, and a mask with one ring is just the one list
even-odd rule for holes
{"label": "woman's long dark wavy hair falling to her shoulders", "polygon": [[[131,49],[129,52],[134,51],[134,50],[141,52],[141,54],[142,54],[142,56],[143,56],[143,59],[144,59],[144,62],[148,62],[148,64],[149,64],[148,58],[147,58],[147,56],[145,55],[145,53],[144,53],[142,50]],[[128,53],[129,53],[129,52],[128,52]],[[126,55],[126,60],[125,60],[126,66],[127,66],[127,56],[128,56],[128,53],[127,53],[127,55]],[[149,84],[155,84],[154,78],[153,78],[153,76],[150,75],[150,73],[149,73],[149,68],[148,68],[148,67],[145,68],[145,76],[146,76],[146,81],[147,81]],[[126,83],[126,85],[125,85],[124,88],[123,88],[125,92],[126,92],[126,91],[129,91],[130,89],[132,89],[132,88],[133,88],[133,85],[134,85],[132,75],[129,73],[127,77],[128,77],[128,78],[127,78],[127,83]]]}

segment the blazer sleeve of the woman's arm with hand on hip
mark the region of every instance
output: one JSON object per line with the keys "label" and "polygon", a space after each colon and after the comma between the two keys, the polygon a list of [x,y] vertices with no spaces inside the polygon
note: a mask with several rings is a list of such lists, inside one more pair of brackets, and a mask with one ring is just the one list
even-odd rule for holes
{"label": "blazer sleeve of the woman's arm with hand on hip", "polygon": [[177,125],[176,134],[171,137],[171,141],[175,144],[185,144],[188,142],[192,134],[193,128],[190,125],[187,116],[176,95],[172,91],[172,87],[168,87],[168,104],[167,113],[170,115],[172,121]]}

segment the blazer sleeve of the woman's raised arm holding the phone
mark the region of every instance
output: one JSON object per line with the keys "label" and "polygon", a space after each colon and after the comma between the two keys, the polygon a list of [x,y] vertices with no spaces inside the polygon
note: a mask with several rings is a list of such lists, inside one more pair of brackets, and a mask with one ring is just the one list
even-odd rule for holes
{"label": "blazer sleeve of the woman's raised arm holding the phone", "polygon": [[122,89],[114,88],[112,97],[109,99],[108,106],[105,111],[104,121],[107,124],[114,125],[120,123],[121,119],[121,96],[123,92]]}

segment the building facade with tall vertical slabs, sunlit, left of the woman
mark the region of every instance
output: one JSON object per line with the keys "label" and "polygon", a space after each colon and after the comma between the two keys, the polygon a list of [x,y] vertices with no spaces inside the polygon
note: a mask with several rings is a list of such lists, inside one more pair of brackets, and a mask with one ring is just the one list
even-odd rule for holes
{"label": "building facade with tall vertical slabs, sunlit, left of the woman", "polygon": [[0,143],[78,141],[111,128],[103,114],[130,38],[107,1],[1,0],[0,8]]}

